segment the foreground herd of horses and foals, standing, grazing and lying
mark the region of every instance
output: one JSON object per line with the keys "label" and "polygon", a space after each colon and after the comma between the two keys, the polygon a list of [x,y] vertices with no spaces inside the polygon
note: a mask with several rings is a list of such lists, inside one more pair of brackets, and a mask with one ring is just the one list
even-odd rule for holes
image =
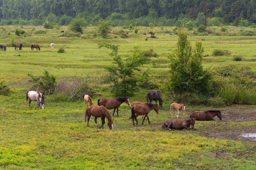
{"label": "foreground herd of horses and foals, standing, grazing and lying", "polygon": [[[147,95],[147,102],[141,102],[141,101],[134,101],[133,103],[130,103],[128,97],[118,97],[116,99],[106,99],[101,98],[98,99],[98,105],[92,104],[92,99],[89,95],[84,95],[84,102],[86,105],[86,112],[84,120],[85,122],[88,122],[89,126],[89,120],[91,116],[94,116],[94,122],[96,123],[96,126],[98,128],[104,128],[105,124],[105,118],[108,120],[108,127],[110,130],[113,129],[113,119],[108,110],[114,110],[113,116],[115,116],[115,111],[117,110],[117,116],[119,116],[119,107],[122,103],[127,103],[131,107],[131,117],[129,119],[136,121],[136,124],[138,124],[137,117],[142,116],[143,122],[147,118],[148,123],[150,124],[150,118],[148,117],[148,114],[151,110],[154,110],[156,114],[159,112],[158,104],[152,103],[152,101],[155,101],[159,103],[160,108],[162,108],[162,96],[160,91],[150,91]],[[38,107],[41,109],[44,109],[44,95],[40,93],[40,91],[28,91],[26,93],[26,101],[29,101],[29,105],[31,101],[37,101]],[[89,103],[89,107],[88,107]],[[185,110],[185,104],[184,103],[171,103],[170,104],[170,112],[177,111],[177,119],[168,119],[162,124],[162,128],[164,130],[182,130],[182,129],[189,129],[191,126],[191,129],[194,128],[195,120],[198,121],[208,121],[208,120],[214,120],[215,116],[218,116],[220,120],[222,120],[222,115],[219,110],[208,110],[208,111],[194,111],[190,114],[190,118],[187,119],[179,119],[179,112],[181,110]],[[101,118],[102,125],[98,126],[97,118]]]}

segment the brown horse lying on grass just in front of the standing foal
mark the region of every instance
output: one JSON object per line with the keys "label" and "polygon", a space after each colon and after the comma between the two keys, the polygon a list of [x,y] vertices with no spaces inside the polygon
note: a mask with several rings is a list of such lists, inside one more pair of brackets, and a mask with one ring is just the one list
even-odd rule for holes
{"label": "brown horse lying on grass just in front of the standing foal", "polygon": [[172,129],[177,129],[177,130],[185,129],[185,130],[187,130],[187,129],[189,129],[190,126],[193,129],[194,125],[195,125],[195,118],[182,119],[182,120],[168,119],[162,124],[162,128],[164,130],[172,130]]}

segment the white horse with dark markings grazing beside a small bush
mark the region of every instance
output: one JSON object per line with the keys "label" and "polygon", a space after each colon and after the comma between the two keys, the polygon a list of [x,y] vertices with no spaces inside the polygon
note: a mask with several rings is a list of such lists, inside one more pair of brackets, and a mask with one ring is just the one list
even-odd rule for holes
{"label": "white horse with dark markings grazing beside a small bush", "polygon": [[44,109],[44,95],[40,91],[28,91],[26,95],[26,102],[37,101],[38,107]]}

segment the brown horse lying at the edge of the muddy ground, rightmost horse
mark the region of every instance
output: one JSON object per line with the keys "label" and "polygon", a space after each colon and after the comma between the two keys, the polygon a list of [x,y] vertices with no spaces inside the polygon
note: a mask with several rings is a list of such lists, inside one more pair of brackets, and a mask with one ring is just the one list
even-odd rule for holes
{"label": "brown horse lying at the edge of the muddy ground, rightmost horse", "polygon": [[190,118],[195,118],[195,120],[214,120],[214,117],[218,116],[220,120],[222,120],[222,114],[220,110],[208,110],[208,111],[194,111],[191,115]]}

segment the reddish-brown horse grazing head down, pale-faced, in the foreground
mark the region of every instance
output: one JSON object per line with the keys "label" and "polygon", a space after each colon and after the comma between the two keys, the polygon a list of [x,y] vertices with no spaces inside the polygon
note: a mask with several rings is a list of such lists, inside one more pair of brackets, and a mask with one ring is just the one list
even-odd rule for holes
{"label": "reddish-brown horse grazing head down, pale-faced, in the foreground", "polygon": [[[106,110],[106,108],[104,106],[91,105],[89,108],[87,108],[86,114],[84,116],[85,122],[86,122],[86,118],[88,117],[87,126],[89,126],[89,120],[90,120],[91,116],[95,117],[94,121],[98,128],[104,128],[105,118],[107,118],[108,119],[108,127],[110,128],[110,130],[113,129],[113,120],[111,118],[110,113],[108,112],[108,110]],[[100,127],[97,124],[97,118],[101,118],[102,126],[100,126]]]}

